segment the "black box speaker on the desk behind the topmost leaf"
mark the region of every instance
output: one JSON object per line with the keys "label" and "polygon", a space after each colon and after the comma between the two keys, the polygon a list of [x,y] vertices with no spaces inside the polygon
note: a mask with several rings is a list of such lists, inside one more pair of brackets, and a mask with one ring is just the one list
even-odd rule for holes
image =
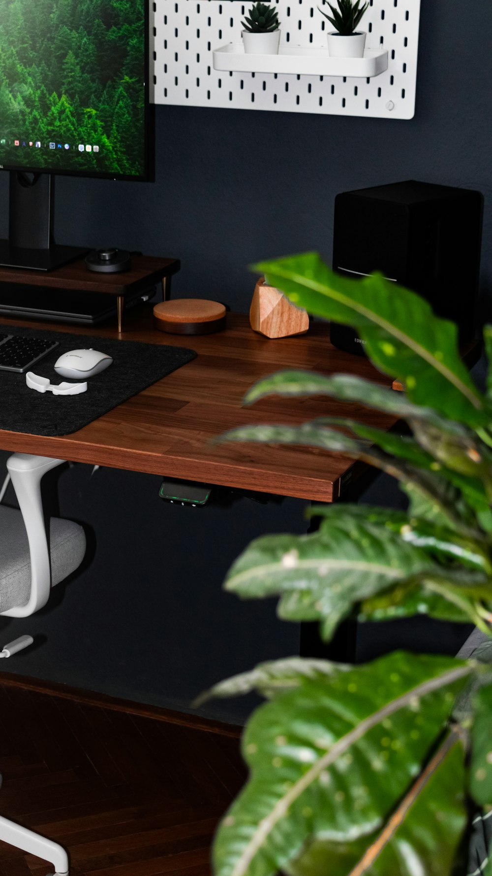
{"label": "black box speaker on the desk behind the topmost leaf", "polygon": [[[456,322],[464,343],[474,337],[482,212],[480,192],[415,180],[337,194],[334,270],[354,278],[382,272]],[[364,355],[348,326],[333,322],[330,340]]]}

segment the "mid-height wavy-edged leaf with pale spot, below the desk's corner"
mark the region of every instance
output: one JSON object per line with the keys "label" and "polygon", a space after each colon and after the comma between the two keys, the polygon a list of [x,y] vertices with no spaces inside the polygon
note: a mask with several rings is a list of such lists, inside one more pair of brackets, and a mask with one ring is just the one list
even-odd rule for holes
{"label": "mid-height wavy-edged leaf with pale spot, below the desk's corner", "polygon": [[319,619],[329,638],[355,604],[433,569],[440,567],[398,533],[346,515],[319,533],[252,541],[224,586],[243,598],[280,596],[280,617]]}

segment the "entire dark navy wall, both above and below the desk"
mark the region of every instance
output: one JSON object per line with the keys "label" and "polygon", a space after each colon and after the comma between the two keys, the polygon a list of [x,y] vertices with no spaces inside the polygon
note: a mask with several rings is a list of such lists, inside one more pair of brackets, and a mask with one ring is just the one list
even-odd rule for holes
{"label": "entire dark navy wall, both above and below the desk", "polygon": [[[487,299],[490,25],[488,0],[478,0],[473,15],[462,0],[422,0],[411,121],[158,106],[155,182],[57,180],[58,240],[181,258],[174,295],[245,310],[254,286],[250,262],[307,249],[331,258],[335,194],[425,180],[484,194]],[[32,618],[29,628],[48,641],[15,667],[12,661],[10,671],[186,708],[203,685],[296,651],[296,627],[280,624],[271,604],[240,604],[220,587],[251,537],[303,531],[302,503],[264,508],[241,499],[185,517],[159,503],[158,478],[89,474],[82,466],[66,472],[60,490],[62,511],[95,528],[93,565],[60,605]],[[28,628],[9,626],[9,634]],[[244,707],[214,709],[209,714],[239,719]]]}

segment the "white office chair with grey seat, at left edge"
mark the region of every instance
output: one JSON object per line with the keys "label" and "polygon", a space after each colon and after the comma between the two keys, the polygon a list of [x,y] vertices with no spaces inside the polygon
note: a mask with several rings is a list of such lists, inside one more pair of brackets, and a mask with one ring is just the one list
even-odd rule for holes
{"label": "white office chair with grey seat, at left edge", "polygon": [[[41,478],[61,459],[16,453],[7,461],[19,510],[0,505],[0,615],[26,618],[46,605],[55,584],[81,564],[86,538],[72,520],[50,519],[49,543],[41,498]],[[31,644],[30,636],[4,647],[10,657]],[[0,776],[0,785],[2,777]],[[68,856],[61,845],[0,816],[0,840],[53,864],[53,876],[67,876]]]}

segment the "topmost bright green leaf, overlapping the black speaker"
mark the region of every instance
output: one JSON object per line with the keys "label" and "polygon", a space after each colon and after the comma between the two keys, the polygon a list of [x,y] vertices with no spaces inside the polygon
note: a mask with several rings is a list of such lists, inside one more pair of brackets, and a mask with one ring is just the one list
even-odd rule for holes
{"label": "topmost bright green leaf, overlapping the black speaker", "polygon": [[472,427],[487,425],[485,399],[460,359],[456,326],[417,294],[380,274],[342,277],[314,252],[253,269],[267,272],[272,286],[310,313],[354,326],[369,358],[404,383],[411,401]]}

